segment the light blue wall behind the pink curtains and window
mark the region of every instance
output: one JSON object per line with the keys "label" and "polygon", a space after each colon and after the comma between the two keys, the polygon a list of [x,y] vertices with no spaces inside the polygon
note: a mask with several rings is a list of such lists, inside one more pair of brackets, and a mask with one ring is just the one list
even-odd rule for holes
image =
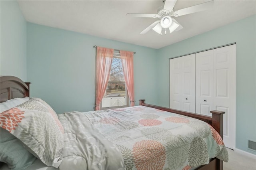
{"label": "light blue wall behind the pink curtains and window", "polygon": [[32,82],[31,96],[42,98],[57,113],[92,111],[96,54],[93,45],[136,51],[136,105],[141,98],[157,104],[156,49],[28,23],[27,76]]}

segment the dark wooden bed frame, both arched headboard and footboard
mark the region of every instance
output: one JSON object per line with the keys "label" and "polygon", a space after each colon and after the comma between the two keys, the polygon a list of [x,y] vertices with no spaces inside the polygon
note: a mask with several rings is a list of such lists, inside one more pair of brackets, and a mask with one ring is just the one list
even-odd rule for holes
{"label": "dark wooden bed frame, both arched headboard and footboard", "polygon": [[[13,99],[16,97],[30,97],[30,83],[24,82],[18,77],[14,76],[2,76],[0,77],[0,86],[1,86],[1,92],[0,92],[0,100],[1,103]],[[184,112],[179,111],[175,109],[170,109],[166,107],[160,107],[155,105],[146,104],[144,99],[140,99],[140,105],[146,106],[146,107],[152,107],[155,109],[160,109],[167,112],[177,113],[180,115],[185,115],[188,117],[200,119],[210,125],[220,134],[221,137],[223,137],[223,114],[225,112],[222,111],[211,111],[212,117],[199,115],[195,113],[190,112]],[[209,164],[202,165],[197,170],[223,170],[223,162],[222,160],[219,160],[218,158],[212,158],[210,160]]]}

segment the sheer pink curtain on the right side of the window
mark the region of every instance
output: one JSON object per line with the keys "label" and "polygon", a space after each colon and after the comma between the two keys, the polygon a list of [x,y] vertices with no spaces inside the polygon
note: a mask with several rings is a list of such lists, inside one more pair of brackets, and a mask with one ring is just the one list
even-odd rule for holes
{"label": "sheer pink curtain on the right side of the window", "polygon": [[124,80],[126,83],[129,99],[131,101],[130,106],[134,106],[135,101],[134,101],[134,77],[133,77],[133,52],[120,50],[120,56],[121,56],[123,70],[124,70]]}

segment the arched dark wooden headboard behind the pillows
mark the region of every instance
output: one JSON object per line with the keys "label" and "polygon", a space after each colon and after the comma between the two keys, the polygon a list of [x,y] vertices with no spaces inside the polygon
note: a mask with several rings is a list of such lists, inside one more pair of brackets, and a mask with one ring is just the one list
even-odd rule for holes
{"label": "arched dark wooden headboard behind the pillows", "polygon": [[29,82],[24,82],[18,77],[1,76],[0,77],[0,101],[1,103],[9,99],[29,97]]}

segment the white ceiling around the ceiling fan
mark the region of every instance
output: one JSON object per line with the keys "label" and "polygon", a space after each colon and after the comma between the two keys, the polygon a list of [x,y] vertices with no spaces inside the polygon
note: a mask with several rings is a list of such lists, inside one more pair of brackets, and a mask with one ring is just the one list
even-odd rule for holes
{"label": "white ceiling around the ceiling fan", "polygon": [[[174,10],[207,1],[177,0]],[[162,0],[19,0],[18,3],[28,22],[156,49],[256,14],[256,0],[215,0],[210,10],[175,18],[184,28],[161,36],[153,30],[140,34],[158,18],[132,18],[126,14],[156,14],[164,6]]]}

